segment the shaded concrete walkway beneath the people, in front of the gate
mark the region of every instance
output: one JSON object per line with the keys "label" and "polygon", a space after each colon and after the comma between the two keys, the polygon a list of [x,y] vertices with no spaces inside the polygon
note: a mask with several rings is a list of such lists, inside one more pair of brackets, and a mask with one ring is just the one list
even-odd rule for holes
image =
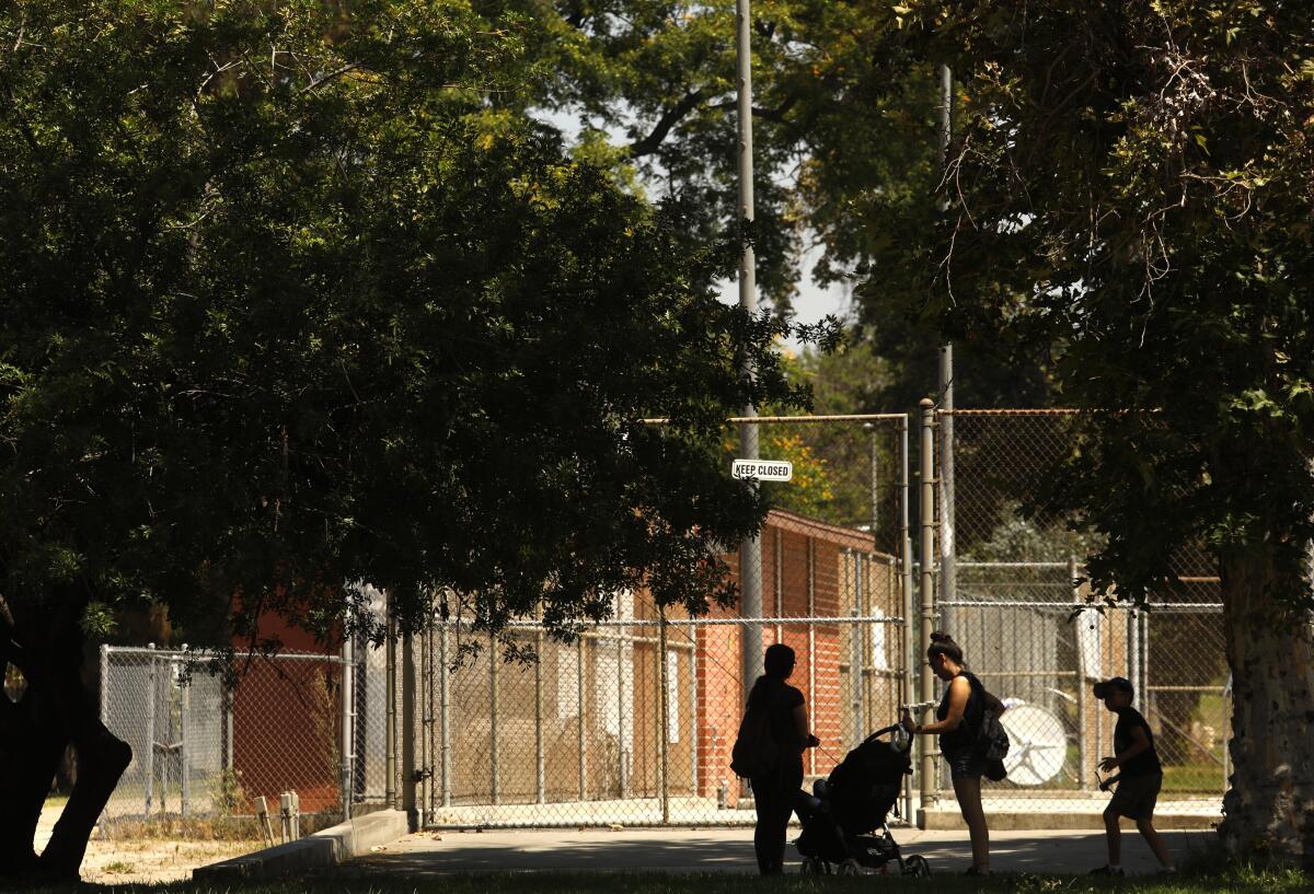
{"label": "shaded concrete walkway beneath the people, in front of the gate", "polygon": [[[791,839],[796,831],[791,830]],[[1180,861],[1204,851],[1213,832],[1164,832]],[[895,830],[904,856],[920,853],[937,873],[958,873],[971,864],[966,832]],[[1129,874],[1150,873],[1158,862],[1135,832],[1122,835],[1122,865]],[[1104,865],[1102,832],[996,832],[996,872],[1084,873]],[[787,872],[798,872],[798,852],[786,851]],[[350,864],[371,874],[438,876],[485,872],[756,872],[753,830],[661,831],[486,831],[418,832],[376,848]]]}

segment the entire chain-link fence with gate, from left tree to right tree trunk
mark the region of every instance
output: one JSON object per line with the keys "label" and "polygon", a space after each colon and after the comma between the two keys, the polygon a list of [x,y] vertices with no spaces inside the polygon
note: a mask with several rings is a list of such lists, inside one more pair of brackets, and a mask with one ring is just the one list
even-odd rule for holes
{"label": "entire chain-link fence with gate, from left tree to right tree trunk", "polygon": [[[754,420],[757,458],[791,462],[792,478],[758,484],[775,508],[727,555],[736,609],[689,618],[624,592],[612,620],[574,639],[532,620],[499,639],[435,620],[384,647],[255,659],[231,691],[204,656],[106,649],[102,715],[134,751],[106,815],[250,817],[256,798],[294,790],[302,813],[393,805],[431,826],[749,823],[729,755],[762,649],[796,652],[791,683],[823,742],[805,757],[816,777],[920,701],[930,625],[1010,705],[1009,777],[987,785],[987,810],[1099,809],[1095,765],[1114,718],[1091,684],[1117,675],[1155,731],[1160,809],[1217,813],[1230,705],[1204,554],[1179,557],[1184,587],[1148,610],[1092,609],[1079,557],[1099,543],[1030,505],[1071,450],[1072,416],[957,411],[924,424],[937,419],[947,437],[925,457],[924,505],[909,499],[907,416]],[[737,453],[732,427],[727,474]],[[912,563],[918,528],[929,568]],[[932,583],[916,603],[915,571]],[[382,613],[381,593],[374,603]],[[901,809],[957,813],[932,767]]]}

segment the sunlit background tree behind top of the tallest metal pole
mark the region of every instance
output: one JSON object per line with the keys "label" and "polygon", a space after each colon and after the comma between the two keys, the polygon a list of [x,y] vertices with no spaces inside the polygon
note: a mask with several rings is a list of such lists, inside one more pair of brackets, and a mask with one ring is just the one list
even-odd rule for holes
{"label": "sunlit background tree behind top of the tallest metal pole", "polygon": [[[738,259],[735,4],[557,0],[507,4],[522,14],[535,76],[502,102],[577,117],[578,151],[692,209],[690,226]],[[758,286],[787,311],[804,239],[837,281],[867,257],[853,226],[876,207],[920,201],[937,179],[934,72],[900,76],[870,47],[894,26],[887,4],[762,0],[753,8]],[[616,140],[619,137],[619,142]],[[916,200],[915,200],[916,197]]]}

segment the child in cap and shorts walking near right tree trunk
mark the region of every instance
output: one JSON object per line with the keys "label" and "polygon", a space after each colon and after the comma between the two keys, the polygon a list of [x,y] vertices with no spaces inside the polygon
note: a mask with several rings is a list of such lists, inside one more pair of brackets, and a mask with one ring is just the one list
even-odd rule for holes
{"label": "child in cap and shorts walking near right tree trunk", "polygon": [[1109,840],[1109,862],[1093,870],[1093,876],[1122,874],[1122,830],[1118,817],[1134,819],[1137,828],[1166,872],[1173,872],[1172,856],[1163,838],[1154,827],[1154,807],[1163,786],[1163,767],[1154,748],[1154,733],[1141,712],[1131,706],[1134,689],[1126,677],[1095,684],[1095,697],[1118,715],[1113,729],[1113,757],[1100,761],[1100,769],[1120,769],[1118,788],[1104,810],[1104,830]]}

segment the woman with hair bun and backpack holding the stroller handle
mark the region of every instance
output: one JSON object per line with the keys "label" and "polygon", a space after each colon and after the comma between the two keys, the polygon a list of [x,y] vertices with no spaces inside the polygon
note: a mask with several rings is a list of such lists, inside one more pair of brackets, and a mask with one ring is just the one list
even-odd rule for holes
{"label": "woman with hair bun and backpack holding the stroller handle", "polygon": [[945,697],[936,709],[934,723],[913,723],[904,710],[905,729],[918,735],[938,735],[940,754],[949,761],[949,775],[954,781],[958,809],[972,839],[972,865],[967,876],[989,874],[989,827],[982,807],[982,776],[986,773],[986,751],[979,747],[986,712],[995,717],[1004,713],[1004,704],[986,692],[976,676],[967,671],[962,647],[942,631],[930,634],[926,650],[930,670],[945,687]]}

